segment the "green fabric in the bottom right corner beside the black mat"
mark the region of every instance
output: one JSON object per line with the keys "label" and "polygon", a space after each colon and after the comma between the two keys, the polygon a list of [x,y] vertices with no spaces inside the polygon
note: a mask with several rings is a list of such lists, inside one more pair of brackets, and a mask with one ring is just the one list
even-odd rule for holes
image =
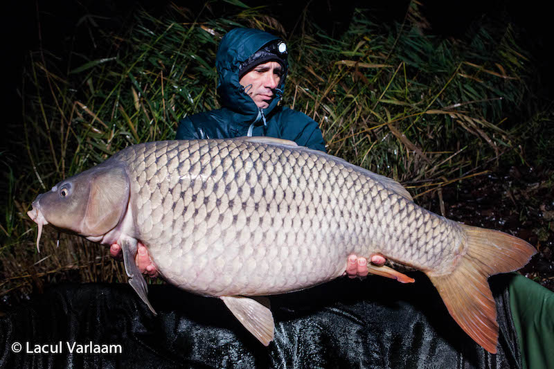
{"label": "green fabric in the bottom right corner beside the black mat", "polygon": [[514,273],[510,309],[524,368],[554,368],[554,292]]}

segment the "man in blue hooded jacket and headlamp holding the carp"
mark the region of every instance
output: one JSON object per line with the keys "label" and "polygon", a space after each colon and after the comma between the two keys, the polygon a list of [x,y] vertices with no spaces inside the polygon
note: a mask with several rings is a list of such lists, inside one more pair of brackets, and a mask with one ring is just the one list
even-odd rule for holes
{"label": "man in blue hooded jacket and headlamp holding the carp", "polygon": [[[182,119],[175,138],[271,136],[325,152],[321,130],[312,118],[278,106],[287,77],[287,55],[287,45],[274,35],[251,28],[231,30],[223,37],[215,60],[223,107]],[[110,252],[120,258],[118,244],[112,245]],[[135,260],[143,273],[158,275],[143,245],[139,245]],[[382,265],[385,260],[374,255],[371,262]],[[365,258],[350,255],[346,273],[351,278],[366,276],[367,271]]]}

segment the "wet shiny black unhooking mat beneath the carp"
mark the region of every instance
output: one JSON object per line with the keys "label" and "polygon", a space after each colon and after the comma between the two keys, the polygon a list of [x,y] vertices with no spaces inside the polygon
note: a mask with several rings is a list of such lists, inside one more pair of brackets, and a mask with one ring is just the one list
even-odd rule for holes
{"label": "wet shiny black unhooking mat beneath the carp", "polygon": [[[2,368],[521,368],[507,282],[497,300],[498,354],[476,345],[421,273],[416,282],[339,278],[271,296],[275,340],[264,347],[222,301],[151,285],[154,316],[120,284],[55,285],[0,318]],[[59,342],[62,343],[59,343]],[[21,352],[13,352],[19,343]],[[121,352],[69,352],[67,344],[120,345]],[[60,353],[33,354],[26,345]],[[104,346],[105,348],[107,346]]]}

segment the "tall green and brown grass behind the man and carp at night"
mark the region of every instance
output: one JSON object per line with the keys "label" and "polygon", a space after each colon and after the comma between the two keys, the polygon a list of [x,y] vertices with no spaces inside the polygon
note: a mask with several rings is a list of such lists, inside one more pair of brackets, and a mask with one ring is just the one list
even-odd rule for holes
{"label": "tall green and brown grass behind the man and carp at night", "polygon": [[209,21],[172,6],[163,18],[139,12],[125,31],[102,34],[100,54],[60,62],[47,50],[30,53],[24,135],[5,173],[0,294],[44,281],[125,281],[107,249],[77,237],[63,235],[57,248],[47,231],[37,254],[26,210],[57,181],[128,145],[174,138],[181,118],[217,109],[215,53],[235,26],[287,39],[283,104],[319,123],[328,152],[401,181],[415,197],[482,174],[506,152],[524,160],[521,125],[511,117],[528,96],[528,60],[510,25],[481,27],[465,40],[425,35],[417,3],[403,24],[368,19],[356,10],[333,39],[309,21],[291,35],[263,9],[241,4]]}

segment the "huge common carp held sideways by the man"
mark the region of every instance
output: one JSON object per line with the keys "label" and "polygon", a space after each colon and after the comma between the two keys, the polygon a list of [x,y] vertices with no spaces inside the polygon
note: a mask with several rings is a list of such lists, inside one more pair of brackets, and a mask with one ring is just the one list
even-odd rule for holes
{"label": "huge common carp held sideways by the man", "polygon": [[[133,145],[38,195],[28,215],[37,247],[44,224],[120,244],[129,283],[154,312],[134,262],[142,242],[168,282],[221,298],[265,345],[274,337],[268,300],[249,296],[328,282],[354,253],[425,272],[456,322],[494,353],[488,276],[536,252],[421,208],[392,179],[276,138]],[[413,281],[388,267],[370,272]]]}

